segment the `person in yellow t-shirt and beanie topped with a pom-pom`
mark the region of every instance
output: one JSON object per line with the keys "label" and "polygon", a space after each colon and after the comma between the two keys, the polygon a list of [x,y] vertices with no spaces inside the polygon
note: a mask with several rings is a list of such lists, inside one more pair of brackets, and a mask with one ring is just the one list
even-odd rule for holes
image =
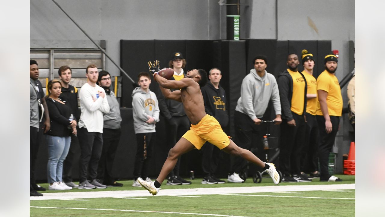
{"label": "person in yellow t-shirt and beanie topped with a pom-pom", "polygon": [[[308,51],[302,51],[302,64],[305,70],[302,71],[303,76],[305,76],[306,83],[308,85],[308,91],[306,94],[307,104],[306,104],[306,131],[305,131],[305,144],[302,149],[302,158],[301,158],[301,173],[303,176],[309,179],[315,177],[320,177],[320,172],[318,172],[318,160],[317,160],[317,149],[318,149],[318,123],[315,117],[315,112],[317,110],[317,80],[313,76],[314,68],[314,57],[313,54],[308,53]],[[309,173],[309,176],[306,175],[303,171]]]}

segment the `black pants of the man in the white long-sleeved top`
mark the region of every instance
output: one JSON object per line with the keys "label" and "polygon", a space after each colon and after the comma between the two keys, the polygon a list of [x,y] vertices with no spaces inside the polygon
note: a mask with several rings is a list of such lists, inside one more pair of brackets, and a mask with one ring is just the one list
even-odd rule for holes
{"label": "black pants of the man in the white long-sleeved top", "polygon": [[[80,145],[79,182],[97,178],[97,166],[102,154],[103,138],[100,132],[88,132],[82,127],[78,131]],[[88,179],[89,178],[89,179]]]}

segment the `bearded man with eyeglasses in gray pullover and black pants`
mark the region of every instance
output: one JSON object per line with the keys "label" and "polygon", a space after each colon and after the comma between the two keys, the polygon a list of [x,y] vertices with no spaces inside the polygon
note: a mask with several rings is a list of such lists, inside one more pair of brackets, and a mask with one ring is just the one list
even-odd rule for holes
{"label": "bearded man with eyeglasses in gray pullover and black pants", "polygon": [[121,187],[122,183],[117,183],[112,175],[115,153],[121,136],[121,122],[119,102],[115,93],[111,91],[111,75],[108,71],[100,71],[97,80],[99,86],[105,90],[110,112],[103,114],[103,149],[100,156],[97,178],[103,185]]}

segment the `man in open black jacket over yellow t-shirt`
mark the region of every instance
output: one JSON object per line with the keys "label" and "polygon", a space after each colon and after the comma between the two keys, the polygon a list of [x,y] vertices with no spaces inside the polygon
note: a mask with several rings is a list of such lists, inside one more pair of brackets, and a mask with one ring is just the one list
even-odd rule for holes
{"label": "man in open black jacket over yellow t-shirt", "polygon": [[[301,147],[305,142],[307,83],[298,71],[297,54],[289,54],[288,69],[278,75],[282,108],[280,170],[283,182],[309,182],[301,175]],[[292,177],[290,177],[292,175]]]}

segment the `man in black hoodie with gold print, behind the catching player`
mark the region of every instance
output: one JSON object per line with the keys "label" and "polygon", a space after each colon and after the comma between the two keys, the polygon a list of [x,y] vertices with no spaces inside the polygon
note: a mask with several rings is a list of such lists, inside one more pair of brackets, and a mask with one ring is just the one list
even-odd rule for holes
{"label": "man in black hoodie with gold print, behind the catching player", "polygon": [[[218,68],[212,68],[209,71],[210,82],[201,88],[201,92],[206,113],[215,117],[222,129],[224,129],[229,123],[229,115],[226,109],[226,93],[221,85],[219,85],[221,78],[221,71]],[[212,145],[204,145],[202,152],[202,169],[206,174],[202,184],[225,183],[225,181],[216,178],[214,174],[218,168],[220,149]]]}

